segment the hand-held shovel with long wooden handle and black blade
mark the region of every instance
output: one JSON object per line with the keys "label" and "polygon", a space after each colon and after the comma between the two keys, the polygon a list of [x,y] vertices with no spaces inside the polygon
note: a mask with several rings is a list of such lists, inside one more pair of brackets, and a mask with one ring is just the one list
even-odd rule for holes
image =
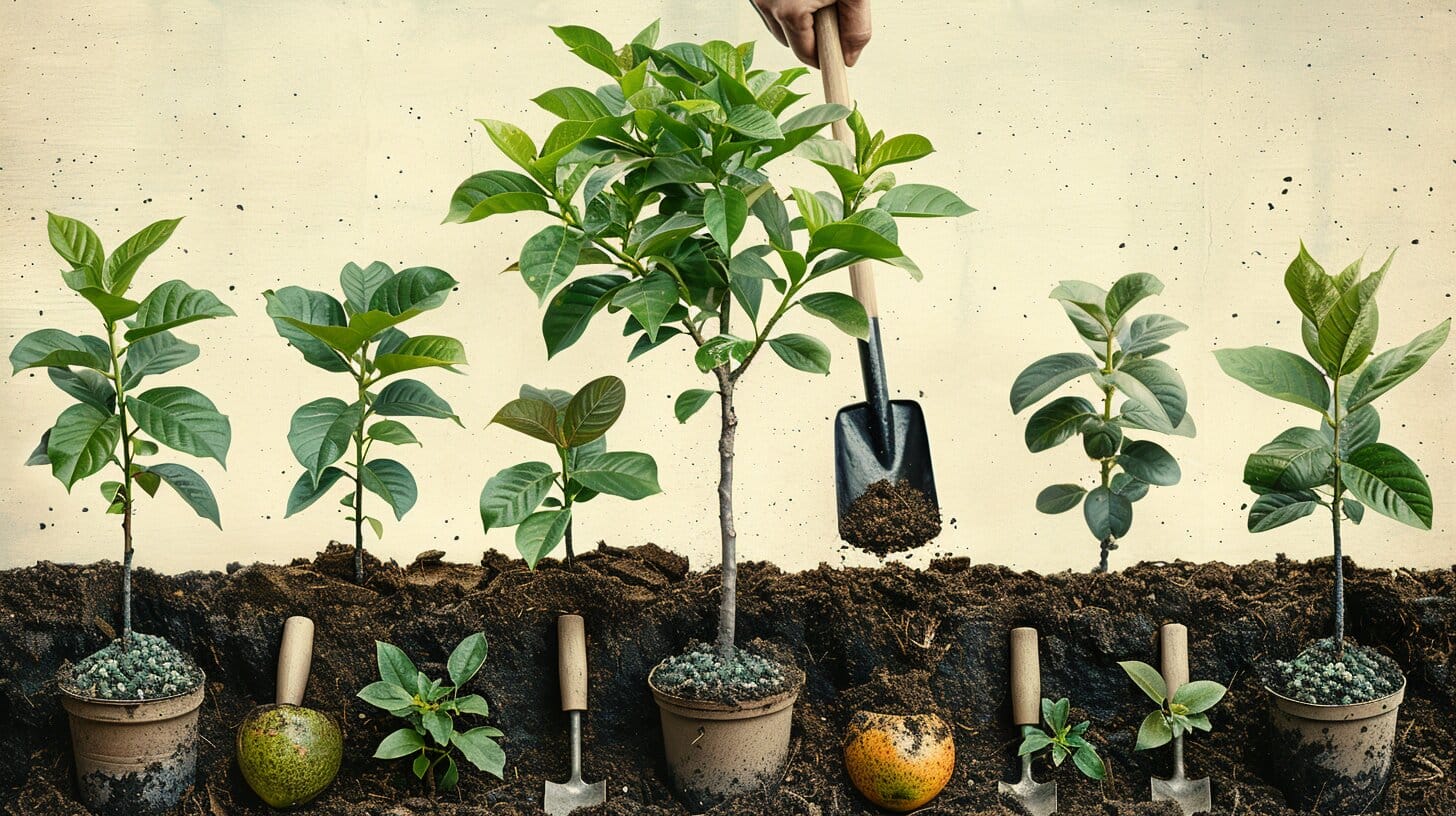
{"label": "hand-held shovel with long wooden handle and black blade", "polygon": [[[827,6],[814,13],[814,39],[818,44],[820,70],[824,74],[824,99],[853,106],[844,51],[839,41],[839,12]],[[843,119],[833,125],[834,138],[853,143]],[[885,354],[879,334],[879,303],[875,275],[866,261],[849,267],[849,286],[869,316],[869,338],[859,341],[859,370],[865,379],[865,401],[846,405],[834,418],[834,494],[839,516],[881,479],[907,481],[938,510],[935,472],[930,469],[930,437],[925,412],[910,399],[890,399],[885,382]]]}

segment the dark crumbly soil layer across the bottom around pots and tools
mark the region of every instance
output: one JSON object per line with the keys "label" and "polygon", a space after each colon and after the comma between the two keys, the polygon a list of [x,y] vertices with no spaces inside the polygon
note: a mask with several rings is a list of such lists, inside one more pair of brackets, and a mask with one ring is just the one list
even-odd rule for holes
{"label": "dark crumbly soil layer across the bottom around pots and tools", "polygon": [[[1456,577],[1450,570],[1361,570],[1347,565],[1350,634],[1393,657],[1409,678],[1395,771],[1374,813],[1456,813]],[[89,654],[116,618],[118,567],[41,562],[0,573],[0,809],[16,816],[82,816],[70,799],[71,764],[55,670]],[[137,628],[167,637],[207,672],[197,788],[178,813],[262,816],[242,782],[233,731],[274,694],[274,654],[288,615],[317,622],[317,654],[306,704],[345,730],[344,768],[303,812],[326,816],[542,816],[543,780],[566,777],[566,720],[559,711],[555,619],[587,619],[591,660],[585,774],[607,780],[607,804],[581,816],[680,816],[661,761],[657,710],[645,678],[664,656],[715,631],[716,576],[689,573],[683,558],[642,546],[579,557],[575,573],[547,561],[530,573],[489,554],[482,565],[427,560],[408,568],[370,560],[370,586],[348,576],[348,554],[287,567],[255,564],[229,574],[137,576]],[[1229,686],[1211,711],[1214,730],[1188,743],[1190,774],[1213,778],[1219,816],[1293,816],[1274,787],[1267,750],[1267,695],[1255,666],[1291,657],[1328,631],[1331,564],[1278,560],[1224,564],[1139,564],[1112,574],[1013,573],[965,560],[927,570],[785,574],[744,564],[740,637],[785,650],[807,673],[795,710],[788,777],[715,816],[834,816],[877,810],[850,787],[842,737],[858,710],[933,713],[951,724],[957,768],[922,813],[1012,816],[996,781],[1018,771],[1009,723],[1008,632],[1041,631],[1042,692],[1070,697],[1073,721],[1092,718],[1108,759],[1105,782],[1038,762],[1060,784],[1064,816],[1175,816],[1149,803],[1147,778],[1168,775],[1166,750],[1134,753],[1142,692],[1117,660],[1156,663],[1166,621],[1190,627],[1191,676]],[[447,650],[483,629],[491,656],[470,691],[483,694],[505,733],[505,781],[470,769],[450,796],[431,801],[408,764],[370,758],[395,723],[354,694],[374,676],[374,638],[395,643],[431,675]]]}

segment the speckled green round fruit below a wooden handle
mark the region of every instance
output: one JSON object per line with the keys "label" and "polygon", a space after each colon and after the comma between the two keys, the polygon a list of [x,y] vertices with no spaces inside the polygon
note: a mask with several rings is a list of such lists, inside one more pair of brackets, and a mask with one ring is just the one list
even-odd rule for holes
{"label": "speckled green round fruit below a wooden handle", "polygon": [[237,768],[272,807],[312,801],[333,781],[342,756],[339,727],[312,708],[256,708],[237,729]]}

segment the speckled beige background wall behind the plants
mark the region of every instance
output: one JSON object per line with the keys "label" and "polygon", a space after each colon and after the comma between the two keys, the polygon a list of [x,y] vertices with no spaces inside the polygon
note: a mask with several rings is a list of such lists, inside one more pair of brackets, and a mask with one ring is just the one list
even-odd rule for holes
{"label": "speckled beige background wall behind the plants", "polygon": [[[925,133],[939,147],[901,181],[945,184],[980,210],[958,223],[907,223],[926,280],[881,278],[893,386],[919,395],[932,424],[949,523],[930,549],[1038,570],[1093,564],[1079,514],[1032,509],[1044,484],[1089,481],[1091,466],[1076,444],[1026,453],[1024,417],[1010,415],[1006,392],[1041,354],[1079,348],[1045,299],[1059,278],[1149,271],[1168,284],[1155,307],[1192,326],[1168,360],[1190,383],[1201,433],[1169,443],[1184,482],[1137,504],[1115,564],[1326,551],[1321,520],[1245,532],[1243,456],[1309,417],[1236,386],[1210,350],[1265,340],[1299,348],[1280,280],[1300,238],[1328,265],[1399,248],[1382,348],[1453,312],[1456,17],[1430,3],[1306,9],[877,3],[875,42],[852,73],[862,106],[872,122]],[[549,117],[531,96],[596,82],[547,25],[594,25],[620,42],[655,16],[667,41],[760,39],[760,64],[789,64],[743,1],[0,6],[6,348],[45,325],[93,331],[90,307],[61,286],[47,208],[99,224],[108,246],[151,220],[186,216],[141,280],[183,277],[239,312],[186,331],[202,360],[169,374],[232,415],[229,469],[199,466],[226,529],[165,495],[138,516],[140,564],[285,561],[348,535],[329,501],[282,520],[297,472],[288,417],[307,399],[344,395],[347,383],[285,348],[259,293],[287,283],[333,289],[345,261],[376,258],[437,265],[463,281],[421,326],[462,337],[472,364],[464,377],[427,377],[467,428],[412,423],[424,449],[399,458],[419,475],[422,498],[373,549],[402,560],[435,546],[453,560],[488,545],[514,552],[510,532],[482,535],[476,495],[498,468],[540,450],[486,420],[521,382],[575,388],[614,372],[632,399],[613,444],[655,453],[667,493],[587,506],[579,539],[655,541],[695,564],[711,560],[715,421],[705,412],[680,427],[671,417],[677,392],[706,383],[686,350],[628,364],[617,326],[601,322],[547,366],[533,296],[496,274],[540,221],[440,226],[460,179],[504,166],[475,117],[542,133]],[[817,93],[812,80],[804,89]],[[766,361],[745,380],[747,558],[871,562],[844,554],[834,535],[830,421],[858,399],[859,376],[852,342],[823,337],[836,351],[828,377]],[[67,495],[44,468],[20,466],[66,404],[44,380],[0,379],[0,567],[116,558],[115,517],[102,513],[96,481]],[[1383,401],[1386,439],[1434,484],[1437,529],[1373,517],[1348,536],[1361,562],[1456,561],[1453,396],[1456,348],[1447,348]]]}

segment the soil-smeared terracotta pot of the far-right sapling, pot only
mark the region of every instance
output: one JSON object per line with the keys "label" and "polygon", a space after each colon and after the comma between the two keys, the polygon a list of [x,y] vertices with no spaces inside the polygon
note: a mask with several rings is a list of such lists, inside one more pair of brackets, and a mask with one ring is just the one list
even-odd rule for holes
{"label": "soil-smeared terracotta pot of the far-right sapling, pot only", "polygon": [[1274,701],[1274,761],[1289,804],[1319,813],[1367,813],[1390,777],[1405,682],[1395,694],[1354,705],[1315,705],[1268,692]]}

